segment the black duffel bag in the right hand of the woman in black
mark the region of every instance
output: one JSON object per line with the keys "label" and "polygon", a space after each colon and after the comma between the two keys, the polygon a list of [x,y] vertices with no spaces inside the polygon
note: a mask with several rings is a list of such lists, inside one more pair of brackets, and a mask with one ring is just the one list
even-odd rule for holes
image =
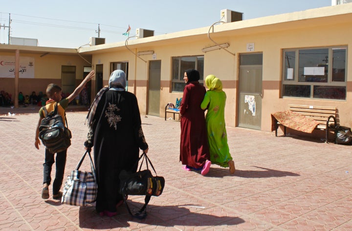
{"label": "black duffel bag in the right hand of the woman in black", "polygon": [[[126,170],[121,171],[119,175],[119,192],[122,194],[128,212],[135,218],[144,219],[147,216],[146,208],[151,197],[161,195],[165,186],[165,179],[157,176],[154,166],[145,152],[143,152],[143,154],[138,158],[134,166],[138,164],[140,159],[142,159],[142,162],[137,172],[132,173]],[[144,160],[146,162],[147,169],[141,171]],[[153,176],[152,172],[149,170],[148,162],[153,168],[156,176]],[[127,205],[127,195],[145,195],[144,206],[135,214],[132,214],[130,207]]]}

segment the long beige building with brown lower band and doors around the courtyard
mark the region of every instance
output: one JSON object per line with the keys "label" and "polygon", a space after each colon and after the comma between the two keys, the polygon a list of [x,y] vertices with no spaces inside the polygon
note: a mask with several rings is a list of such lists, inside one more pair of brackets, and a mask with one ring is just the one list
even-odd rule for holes
{"label": "long beige building with brown lower band and doors around the courtyard", "polygon": [[[75,67],[71,77],[75,76],[77,85],[84,68],[91,66],[96,71],[93,97],[108,84],[114,69],[123,69],[128,91],[137,96],[141,113],[163,117],[165,105],[182,97],[184,70],[194,68],[203,78],[214,74],[221,79],[227,94],[227,126],[270,131],[271,113],[285,111],[288,104],[304,104],[335,106],[340,124],[352,127],[351,24],[352,3],[347,3],[214,22],[198,29],[82,47],[78,53],[75,49],[0,45],[0,56],[14,56],[20,50],[21,57],[34,58],[34,78],[19,79],[22,92],[44,91],[52,81],[64,85],[64,68],[68,67]],[[14,89],[11,81],[0,75],[0,90]],[[23,88],[24,83],[30,87]]]}

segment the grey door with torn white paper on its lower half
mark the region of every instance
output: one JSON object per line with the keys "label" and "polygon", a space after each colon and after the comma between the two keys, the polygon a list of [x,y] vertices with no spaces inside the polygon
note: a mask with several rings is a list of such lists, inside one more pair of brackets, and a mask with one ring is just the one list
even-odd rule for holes
{"label": "grey door with torn white paper on its lower half", "polygon": [[263,54],[240,55],[239,127],[261,130]]}

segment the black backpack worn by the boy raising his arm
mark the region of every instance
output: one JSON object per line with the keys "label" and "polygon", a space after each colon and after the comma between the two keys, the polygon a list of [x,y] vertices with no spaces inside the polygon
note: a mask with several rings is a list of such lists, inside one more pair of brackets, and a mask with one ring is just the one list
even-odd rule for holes
{"label": "black backpack worn by the boy raising his arm", "polygon": [[58,104],[55,104],[54,111],[48,113],[43,107],[45,118],[39,126],[39,138],[51,153],[65,151],[71,145],[71,131],[68,129],[67,119],[64,126],[63,118],[58,114]]}

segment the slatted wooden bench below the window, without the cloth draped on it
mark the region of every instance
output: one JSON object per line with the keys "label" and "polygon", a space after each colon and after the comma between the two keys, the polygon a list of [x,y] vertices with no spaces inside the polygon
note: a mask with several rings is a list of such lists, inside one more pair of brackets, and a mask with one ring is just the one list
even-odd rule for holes
{"label": "slatted wooden bench below the window, without the cloth draped on it", "polygon": [[[311,106],[311,105],[296,105],[296,104],[288,104],[287,110],[298,113],[300,115],[304,115],[308,118],[312,118],[315,121],[318,121],[319,124],[315,127],[315,129],[325,130],[326,131],[326,143],[328,143],[328,134],[329,129],[333,129],[336,127],[336,107],[328,107],[328,106]],[[330,119],[333,120],[333,125],[330,125]],[[276,120],[276,129],[275,136],[277,137],[277,130],[280,124]],[[284,126],[284,136],[286,136],[286,127]]]}

